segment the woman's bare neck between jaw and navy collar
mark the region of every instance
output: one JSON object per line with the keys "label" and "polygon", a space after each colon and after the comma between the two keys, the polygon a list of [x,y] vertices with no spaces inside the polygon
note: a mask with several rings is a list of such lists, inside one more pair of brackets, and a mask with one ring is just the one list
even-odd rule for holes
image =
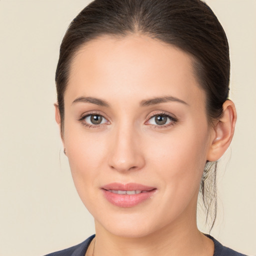
{"label": "woman's bare neck between jaw and navy collar", "polygon": [[95,221],[94,256],[212,256],[212,240],[197,229],[195,218],[191,220],[177,221],[142,237],[121,237],[109,233]]}

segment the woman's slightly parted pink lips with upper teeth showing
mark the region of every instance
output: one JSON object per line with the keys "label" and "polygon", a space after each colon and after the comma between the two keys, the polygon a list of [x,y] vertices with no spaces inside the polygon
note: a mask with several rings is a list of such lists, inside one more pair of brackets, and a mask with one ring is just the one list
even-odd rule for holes
{"label": "woman's slightly parted pink lips with upper teeth showing", "polygon": [[133,207],[153,196],[155,187],[137,183],[110,183],[104,185],[101,190],[105,198],[119,207]]}

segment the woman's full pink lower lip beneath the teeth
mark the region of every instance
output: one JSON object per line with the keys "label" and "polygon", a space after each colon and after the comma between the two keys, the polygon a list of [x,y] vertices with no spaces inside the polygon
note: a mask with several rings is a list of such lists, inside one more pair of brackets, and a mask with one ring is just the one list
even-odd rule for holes
{"label": "woman's full pink lower lip beneath the teeth", "polygon": [[138,194],[116,194],[102,189],[105,198],[112,204],[119,207],[132,207],[149,198],[155,193],[156,189]]}

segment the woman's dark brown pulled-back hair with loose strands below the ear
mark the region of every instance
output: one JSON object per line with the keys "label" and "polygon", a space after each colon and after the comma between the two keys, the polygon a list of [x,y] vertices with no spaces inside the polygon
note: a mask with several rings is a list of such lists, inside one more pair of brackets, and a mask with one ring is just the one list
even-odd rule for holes
{"label": "woman's dark brown pulled-back hair with loose strands below the ear", "polygon": [[[123,37],[130,33],[150,36],[190,54],[195,75],[206,93],[209,124],[220,118],[222,104],[229,91],[229,49],[221,24],[204,2],[94,0],[72,20],[60,46],[55,82],[62,129],[63,97],[68,83],[70,62],[77,50],[101,35]],[[212,227],[216,218],[216,162],[208,162],[205,166],[200,191],[207,217],[210,208],[214,210]],[[212,167],[213,170],[210,171]]]}

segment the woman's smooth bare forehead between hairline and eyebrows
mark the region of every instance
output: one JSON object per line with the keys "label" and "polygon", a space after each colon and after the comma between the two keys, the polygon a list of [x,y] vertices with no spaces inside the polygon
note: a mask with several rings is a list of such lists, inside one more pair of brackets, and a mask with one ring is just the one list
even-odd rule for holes
{"label": "woman's smooth bare forehead between hairline and eyebrows", "polygon": [[204,94],[192,63],[179,48],[145,35],[101,36],[76,52],[65,94],[69,100],[90,93],[109,100],[171,94],[190,101]]}

